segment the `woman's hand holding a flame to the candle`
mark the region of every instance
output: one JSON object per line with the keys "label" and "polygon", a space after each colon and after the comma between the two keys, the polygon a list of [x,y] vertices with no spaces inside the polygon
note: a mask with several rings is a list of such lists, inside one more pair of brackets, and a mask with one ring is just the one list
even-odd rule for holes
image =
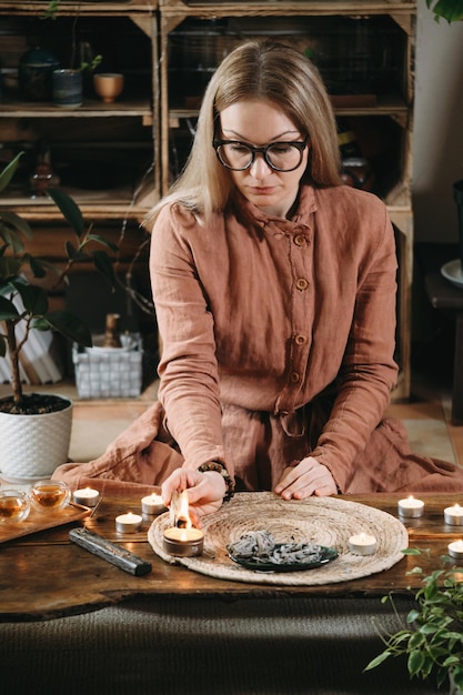
{"label": "woman's hand holding a flame to the candle", "polygon": [[200,516],[220,508],[227,492],[227,484],[217,471],[201,473],[193,469],[177,469],[162,483],[161,495],[165,506],[170,505],[172,493],[188,491],[189,512],[198,525]]}

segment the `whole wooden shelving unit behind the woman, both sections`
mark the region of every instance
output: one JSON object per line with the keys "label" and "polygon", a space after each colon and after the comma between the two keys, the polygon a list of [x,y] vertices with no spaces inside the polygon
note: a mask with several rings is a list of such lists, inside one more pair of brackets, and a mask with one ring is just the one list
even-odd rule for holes
{"label": "whole wooden shelving unit behind the woman, both sections", "polygon": [[[102,167],[103,173],[125,172],[125,180],[115,177],[114,182],[110,177],[109,185],[97,189],[85,190],[74,180],[68,183],[84,216],[105,223],[127,216],[140,221],[167,192],[191,147],[202,90],[235,43],[265,32],[290,39],[301,50],[310,49],[325,78],[336,115],[351,122],[372,162],[374,192],[386,202],[396,230],[400,263],[396,359],[401,369],[393,399],[405,400],[410,394],[416,1],[81,0],[79,28],[84,34],[88,32],[90,41],[101,38],[101,33],[105,39],[112,38],[122,51],[118,71],[127,70],[128,84],[132,70],[133,74],[139,71],[142,87],[124,90],[110,105],[99,102],[88,91],[81,108],[66,112],[51,103],[20,101],[10,85],[9,69],[13,77],[14,66],[27,48],[24,32],[33,18],[41,17],[46,6],[44,0],[0,0],[3,157],[9,145],[16,149],[24,145],[28,150],[39,138],[46,138],[58,160],[69,159],[71,170],[79,169],[76,163],[87,162],[91,174],[95,174],[93,169],[98,167]],[[76,2],[63,0],[57,22],[66,27],[73,21],[76,8]],[[98,29],[99,22],[104,23],[103,31]],[[97,28],[94,31],[92,26]],[[95,48],[98,42],[97,38]],[[138,54],[134,64],[133,51]],[[338,75],[336,70],[341,71]],[[363,90],[366,99],[362,102],[362,90],[354,94],[348,89],[343,93],[339,84],[355,81],[355,74],[361,78],[363,70],[368,74],[363,85],[366,85]],[[66,173],[64,168],[63,183]],[[0,209],[4,205],[18,209],[42,225],[57,224],[59,218],[47,199],[31,200],[27,191],[3,194]]]}

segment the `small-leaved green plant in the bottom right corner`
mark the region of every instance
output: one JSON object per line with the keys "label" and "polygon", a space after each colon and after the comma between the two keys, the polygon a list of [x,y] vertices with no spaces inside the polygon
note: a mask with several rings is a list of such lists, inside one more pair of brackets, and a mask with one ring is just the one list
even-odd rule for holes
{"label": "small-leaved green plant in the bottom right corner", "polygon": [[[420,555],[416,548],[407,548],[404,554]],[[463,582],[461,568],[452,558],[441,557],[442,568],[426,574],[421,567],[412,570],[421,574],[422,586],[416,591],[416,606],[412,608],[405,623],[394,634],[380,633],[384,651],[373,658],[365,671],[375,668],[386,659],[407,657],[410,677],[429,678],[434,675],[437,686],[450,682],[451,695],[463,693]],[[391,595],[383,597],[391,601]],[[397,620],[399,615],[397,615]]]}

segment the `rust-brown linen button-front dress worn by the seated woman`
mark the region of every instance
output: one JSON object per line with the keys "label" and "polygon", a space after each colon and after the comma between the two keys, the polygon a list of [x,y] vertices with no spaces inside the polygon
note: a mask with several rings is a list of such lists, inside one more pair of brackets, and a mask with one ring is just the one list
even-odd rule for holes
{"label": "rust-brown linen button-front dress worn by the seated woman", "polygon": [[396,256],[379,198],[302,185],[283,220],[236,194],[207,224],[167,205],[150,271],[160,403],[95,462],[56,477],[159,485],[214,460],[238,490],[272,490],[310,454],[342,493],[463,490],[463,470],[414,455],[403,425],[383,420],[397,373]]}

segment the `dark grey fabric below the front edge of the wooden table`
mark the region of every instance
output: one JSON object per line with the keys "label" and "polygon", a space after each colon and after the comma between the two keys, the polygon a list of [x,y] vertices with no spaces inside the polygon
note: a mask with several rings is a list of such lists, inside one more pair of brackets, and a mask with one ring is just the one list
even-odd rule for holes
{"label": "dark grey fabric below the front edge of the wooden table", "polygon": [[[411,607],[397,602],[401,614]],[[0,624],[1,693],[9,695],[435,695],[381,649],[374,598],[139,600],[47,622]]]}

